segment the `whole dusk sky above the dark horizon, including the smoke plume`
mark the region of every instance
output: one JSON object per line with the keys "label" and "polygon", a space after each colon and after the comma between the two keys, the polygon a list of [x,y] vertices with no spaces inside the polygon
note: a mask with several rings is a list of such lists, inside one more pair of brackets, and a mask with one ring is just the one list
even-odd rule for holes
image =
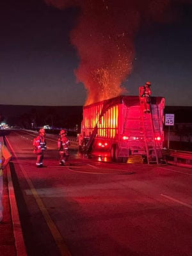
{"label": "whole dusk sky above the dark horizon, including the smoke plume", "polygon": [[1,1],[0,104],[82,106],[150,81],[192,106],[192,1],[126,2]]}

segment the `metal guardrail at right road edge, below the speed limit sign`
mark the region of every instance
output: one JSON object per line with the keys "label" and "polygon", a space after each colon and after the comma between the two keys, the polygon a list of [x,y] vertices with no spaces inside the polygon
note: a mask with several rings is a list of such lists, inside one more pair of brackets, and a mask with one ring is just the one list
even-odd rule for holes
{"label": "metal guardrail at right road edge, below the speed limit sign", "polygon": [[163,150],[167,163],[192,168],[192,152],[180,150]]}

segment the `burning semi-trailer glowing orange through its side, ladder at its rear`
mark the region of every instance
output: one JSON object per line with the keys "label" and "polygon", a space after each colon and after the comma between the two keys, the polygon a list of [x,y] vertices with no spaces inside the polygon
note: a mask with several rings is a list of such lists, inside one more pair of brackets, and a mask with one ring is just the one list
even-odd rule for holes
{"label": "burning semi-trailer glowing orange through its side, ladder at its rear", "polygon": [[145,95],[144,87],[139,96],[120,95],[84,106],[79,150],[109,152],[115,162],[141,156],[144,163],[161,163],[164,97]]}

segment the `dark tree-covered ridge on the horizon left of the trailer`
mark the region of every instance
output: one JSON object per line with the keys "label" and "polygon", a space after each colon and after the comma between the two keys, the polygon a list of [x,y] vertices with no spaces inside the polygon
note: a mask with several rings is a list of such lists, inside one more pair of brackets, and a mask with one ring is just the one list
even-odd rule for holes
{"label": "dark tree-covered ridge on the horizon left of the trailer", "polygon": [[[20,109],[19,109],[20,110]],[[74,129],[76,125],[81,127],[83,107],[64,106],[64,107],[44,107],[44,106],[23,106],[22,111],[17,111],[17,106],[13,106],[11,114],[4,118],[10,126],[24,129],[31,129],[49,125],[52,129]],[[32,125],[33,124],[33,125]]]}

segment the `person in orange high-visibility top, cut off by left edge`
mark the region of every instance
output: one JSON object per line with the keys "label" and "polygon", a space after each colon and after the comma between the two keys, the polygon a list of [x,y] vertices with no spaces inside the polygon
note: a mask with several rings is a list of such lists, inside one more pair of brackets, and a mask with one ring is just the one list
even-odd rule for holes
{"label": "person in orange high-visibility top, cut off by left edge", "polygon": [[3,219],[3,205],[2,205],[2,198],[3,198],[3,170],[6,165],[9,163],[12,155],[10,154],[9,150],[6,148],[4,144],[0,143],[0,222]]}

